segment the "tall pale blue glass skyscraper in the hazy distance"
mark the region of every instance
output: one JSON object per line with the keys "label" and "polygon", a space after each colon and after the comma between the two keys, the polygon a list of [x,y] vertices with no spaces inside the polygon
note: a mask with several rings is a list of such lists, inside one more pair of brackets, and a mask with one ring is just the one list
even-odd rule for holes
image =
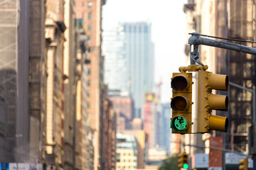
{"label": "tall pale blue glass skyscraper in the hazy distance", "polygon": [[129,94],[134,98],[135,117],[141,118],[144,92],[154,84],[154,45],[151,23],[123,23],[127,58]]}

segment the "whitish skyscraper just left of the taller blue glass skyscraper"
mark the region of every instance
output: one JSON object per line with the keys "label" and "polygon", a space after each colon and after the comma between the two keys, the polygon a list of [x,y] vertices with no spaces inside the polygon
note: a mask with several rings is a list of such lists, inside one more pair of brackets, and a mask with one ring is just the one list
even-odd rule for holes
{"label": "whitish skyscraper just left of the taller blue glass skyscraper", "polygon": [[129,76],[125,54],[125,35],[122,26],[104,30],[102,52],[105,57],[105,84],[110,91],[119,90],[129,96]]}

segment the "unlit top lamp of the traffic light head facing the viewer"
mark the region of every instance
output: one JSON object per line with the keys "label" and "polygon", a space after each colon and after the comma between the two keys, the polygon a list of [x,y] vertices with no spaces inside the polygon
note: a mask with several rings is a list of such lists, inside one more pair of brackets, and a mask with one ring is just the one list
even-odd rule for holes
{"label": "unlit top lamp of the traffic light head facing the viewer", "polygon": [[186,76],[176,76],[171,79],[171,88],[176,91],[183,91],[188,88],[189,80]]}

